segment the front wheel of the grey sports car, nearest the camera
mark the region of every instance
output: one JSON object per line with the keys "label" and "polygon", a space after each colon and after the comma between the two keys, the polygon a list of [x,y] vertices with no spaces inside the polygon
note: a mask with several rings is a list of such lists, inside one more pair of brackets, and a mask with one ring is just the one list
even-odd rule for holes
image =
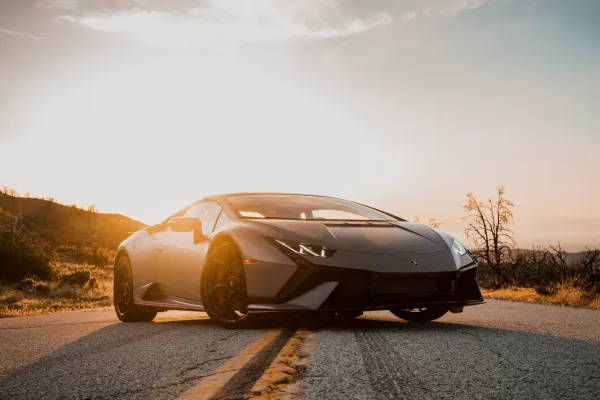
{"label": "front wheel of the grey sports car, nearest the camera", "polygon": [[227,240],[210,250],[200,282],[202,305],[211,320],[225,328],[248,326],[246,274],[237,245]]}

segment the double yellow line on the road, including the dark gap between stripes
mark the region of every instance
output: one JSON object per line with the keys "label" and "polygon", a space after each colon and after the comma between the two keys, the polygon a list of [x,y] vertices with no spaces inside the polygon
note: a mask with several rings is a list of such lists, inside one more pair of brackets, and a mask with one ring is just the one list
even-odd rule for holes
{"label": "double yellow line on the road, including the dark gap between stripes", "polygon": [[315,332],[273,329],[179,398],[208,400],[236,394],[257,399],[297,397],[316,344]]}

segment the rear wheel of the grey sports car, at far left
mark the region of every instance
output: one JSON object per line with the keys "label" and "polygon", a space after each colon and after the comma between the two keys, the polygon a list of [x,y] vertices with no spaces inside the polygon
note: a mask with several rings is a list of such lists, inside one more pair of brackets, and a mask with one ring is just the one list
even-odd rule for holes
{"label": "rear wheel of the grey sports car, at far left", "polygon": [[117,317],[123,322],[147,322],[156,317],[157,310],[133,302],[133,275],[127,256],[115,262],[113,303]]}

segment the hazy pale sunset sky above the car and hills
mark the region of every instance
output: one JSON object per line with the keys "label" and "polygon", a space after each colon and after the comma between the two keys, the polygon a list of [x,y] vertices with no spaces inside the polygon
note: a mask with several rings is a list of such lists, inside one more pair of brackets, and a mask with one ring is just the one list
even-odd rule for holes
{"label": "hazy pale sunset sky above the car and hills", "polygon": [[[158,222],[347,198],[600,246],[596,0],[0,0],[0,184]],[[462,235],[462,236],[461,236]]]}

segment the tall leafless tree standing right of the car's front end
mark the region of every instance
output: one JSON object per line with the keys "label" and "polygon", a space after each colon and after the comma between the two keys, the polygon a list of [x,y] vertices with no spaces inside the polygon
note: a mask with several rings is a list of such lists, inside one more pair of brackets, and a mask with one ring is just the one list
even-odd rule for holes
{"label": "tall leafless tree standing right of the car's front end", "polygon": [[478,202],[473,193],[467,193],[467,204],[463,207],[468,212],[463,219],[469,221],[465,234],[473,239],[475,254],[497,277],[506,281],[502,265],[516,245],[509,228],[513,222],[513,202],[504,197],[504,187],[500,186],[496,198],[490,197],[487,201]]}

